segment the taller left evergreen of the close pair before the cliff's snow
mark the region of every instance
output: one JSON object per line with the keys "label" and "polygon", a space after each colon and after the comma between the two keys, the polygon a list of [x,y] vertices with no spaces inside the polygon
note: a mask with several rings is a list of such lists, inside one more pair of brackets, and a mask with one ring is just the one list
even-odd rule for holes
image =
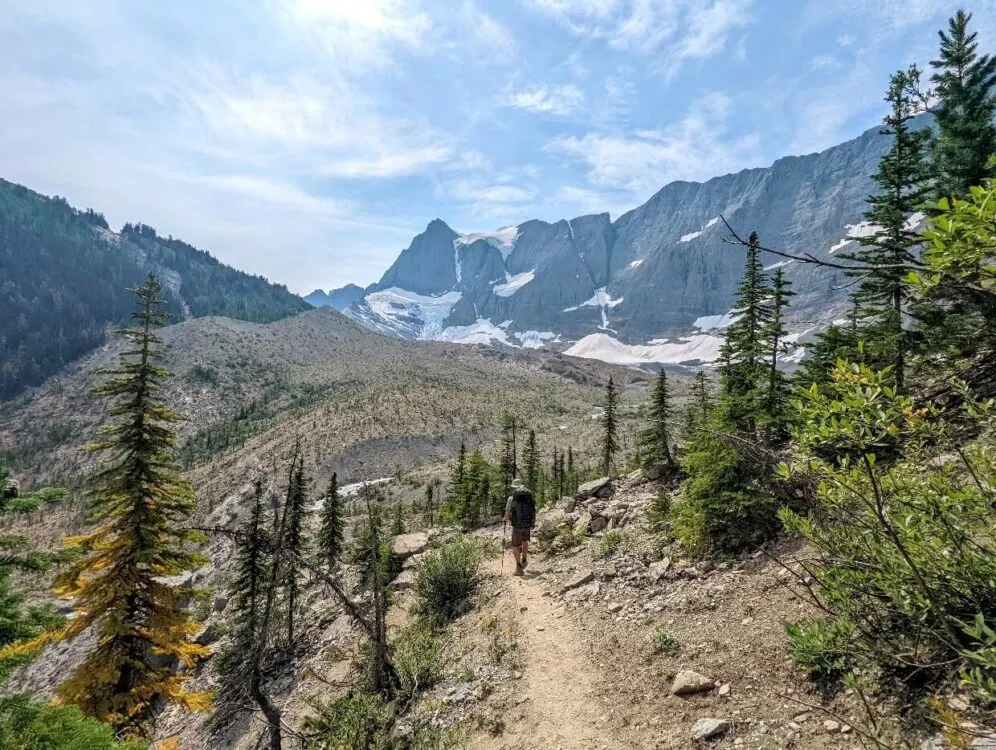
{"label": "taller left evergreen of the close pair before the cliff's snow", "polygon": [[772,290],[760,259],[760,240],[751,232],[744,277],[734,304],[737,318],[726,329],[721,387],[730,426],[754,432],[767,386],[769,352],[764,331],[771,321]]}

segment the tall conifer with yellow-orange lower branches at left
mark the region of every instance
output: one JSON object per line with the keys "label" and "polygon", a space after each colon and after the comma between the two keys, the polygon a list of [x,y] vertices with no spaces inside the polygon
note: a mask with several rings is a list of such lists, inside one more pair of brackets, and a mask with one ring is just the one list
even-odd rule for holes
{"label": "tall conifer with yellow-orange lower branches at left", "polygon": [[183,604],[189,592],[170,579],[202,558],[187,551],[194,540],[186,530],[194,493],[174,458],[172,425],[180,418],[159,393],[169,375],[157,364],[162,341],[154,333],[166,320],[162,288],[150,274],[134,293],[138,326],[121,331],[132,347],[95,389],[115,418],[92,447],[111,456],[91,505],[100,526],[72,540],[84,554],[60,576],[58,589],[75,597],[75,617],[61,637],[93,628],[99,641],[58,694],[86,714],[139,733],[159,700],[194,710],[210,700],[185,692],[189,678],[163,666],[164,657],[191,667],[207,655],[189,640],[199,629]]}

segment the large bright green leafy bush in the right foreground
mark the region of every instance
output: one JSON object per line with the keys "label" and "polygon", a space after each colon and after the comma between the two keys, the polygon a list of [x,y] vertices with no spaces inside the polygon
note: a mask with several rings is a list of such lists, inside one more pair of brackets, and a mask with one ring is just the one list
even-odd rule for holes
{"label": "large bright green leafy bush in the right foreground", "polygon": [[[900,685],[961,672],[996,699],[996,449],[988,436],[962,445],[937,412],[895,393],[887,373],[841,363],[832,378],[834,396],[813,386],[798,405],[806,460],[780,469],[818,483],[812,512],[785,509],[782,519],[822,553],[805,567],[811,595],[833,615],[828,627],[840,628],[831,651]],[[992,404],[961,396],[985,434]],[[897,440],[898,458],[883,459]],[[828,449],[835,461],[816,457]],[[817,636],[829,637],[800,632],[800,655],[816,655]]]}

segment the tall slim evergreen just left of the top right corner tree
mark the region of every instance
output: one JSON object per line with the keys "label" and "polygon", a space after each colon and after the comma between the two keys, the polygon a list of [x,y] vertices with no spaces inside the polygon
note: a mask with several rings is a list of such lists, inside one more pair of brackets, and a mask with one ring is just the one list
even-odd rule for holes
{"label": "tall slim evergreen just left of the top right corner tree", "polygon": [[854,299],[863,327],[868,330],[869,354],[880,360],[877,364],[892,366],[900,391],[904,388],[908,349],[903,315],[910,296],[904,279],[914,261],[913,248],[920,243],[919,232],[910,228],[907,220],[923,205],[929,190],[925,163],[930,135],[910,128],[917,114],[910,92],[917,88],[919,75],[912,67],[890,79],[886,100],[892,110],[885,118],[882,133],[892,136],[892,147],[872,176],[881,192],[868,197],[869,209],[865,213],[865,219],[880,229],[859,240],[861,250],[842,256],[879,267],[870,273],[861,272],[864,280]]}

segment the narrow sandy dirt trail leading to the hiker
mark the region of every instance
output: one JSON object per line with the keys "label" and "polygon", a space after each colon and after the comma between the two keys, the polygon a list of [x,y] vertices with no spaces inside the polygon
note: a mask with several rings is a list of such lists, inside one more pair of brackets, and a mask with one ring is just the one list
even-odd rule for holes
{"label": "narrow sandy dirt trail leading to the hiker", "polygon": [[[626,730],[613,720],[614,712],[604,696],[615,693],[618,676],[600,673],[590,647],[575,630],[563,607],[543,596],[536,580],[545,562],[530,559],[528,572],[510,575],[511,556],[505,558],[501,577],[502,606],[513,613],[520,626],[522,680],[519,699],[499,737],[475,737],[468,747],[475,750],[629,750],[645,743],[627,741]],[[501,564],[493,560],[490,572],[500,575]],[[521,716],[521,718],[519,718]]]}

